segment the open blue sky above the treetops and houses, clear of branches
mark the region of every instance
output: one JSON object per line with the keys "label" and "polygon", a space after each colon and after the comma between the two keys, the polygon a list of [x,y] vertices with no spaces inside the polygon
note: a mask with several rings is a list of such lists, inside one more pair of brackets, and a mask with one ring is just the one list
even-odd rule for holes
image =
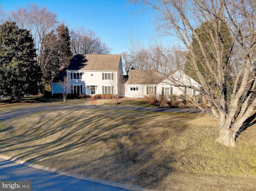
{"label": "open blue sky above the treetops and houses, clear of branches", "polygon": [[112,49],[112,54],[128,51],[129,35],[145,45],[154,35],[150,13],[132,15],[126,0],[0,0],[5,11],[36,3],[58,15],[69,29],[84,27],[94,31]]}

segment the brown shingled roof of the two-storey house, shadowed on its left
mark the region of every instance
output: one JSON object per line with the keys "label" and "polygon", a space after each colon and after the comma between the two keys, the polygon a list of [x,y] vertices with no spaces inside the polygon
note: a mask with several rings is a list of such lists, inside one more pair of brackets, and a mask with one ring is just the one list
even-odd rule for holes
{"label": "brown shingled roof of the two-storey house, shadowed on its left", "polygon": [[75,55],[68,70],[118,71],[121,55],[84,54]]}

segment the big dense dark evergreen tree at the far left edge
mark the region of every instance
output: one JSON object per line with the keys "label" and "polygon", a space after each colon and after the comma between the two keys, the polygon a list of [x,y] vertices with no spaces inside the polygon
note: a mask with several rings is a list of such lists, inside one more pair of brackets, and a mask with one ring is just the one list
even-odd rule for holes
{"label": "big dense dark evergreen tree at the far left edge", "polygon": [[35,58],[29,31],[15,22],[0,25],[0,95],[15,99],[38,91],[42,71]]}

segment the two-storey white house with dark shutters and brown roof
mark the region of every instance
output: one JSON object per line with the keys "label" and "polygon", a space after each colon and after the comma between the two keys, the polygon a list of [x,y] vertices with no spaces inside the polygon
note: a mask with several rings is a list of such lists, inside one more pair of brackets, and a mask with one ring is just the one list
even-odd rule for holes
{"label": "two-storey white house with dark shutters and brown roof", "polygon": [[[122,75],[121,55],[75,55],[67,68],[61,68],[52,81],[52,94],[118,94],[118,77]],[[67,80],[64,82],[64,76]],[[60,83],[62,82],[62,83]]]}

